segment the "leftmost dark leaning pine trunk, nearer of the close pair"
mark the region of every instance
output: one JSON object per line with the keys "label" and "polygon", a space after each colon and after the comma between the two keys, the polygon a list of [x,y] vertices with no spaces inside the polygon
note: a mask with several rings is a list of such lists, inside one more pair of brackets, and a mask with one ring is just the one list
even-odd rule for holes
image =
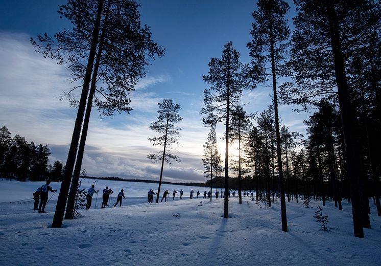
{"label": "leftmost dark leaning pine trunk, nearer of the close pair", "polygon": [[94,57],[95,57],[95,54],[97,51],[97,43],[98,43],[98,36],[99,36],[99,31],[100,31],[102,9],[103,9],[103,0],[100,0],[99,6],[98,6],[96,24],[94,26],[94,31],[93,31],[92,39],[91,39],[91,46],[90,46],[90,51],[89,51],[89,57],[87,60],[86,73],[85,73],[85,78],[83,81],[83,88],[82,88],[80,103],[78,106],[77,118],[76,118],[74,130],[73,130],[73,135],[72,135],[72,142],[70,143],[70,148],[69,148],[69,152],[67,155],[66,165],[65,165],[64,172],[63,172],[63,178],[62,178],[60,193],[58,195],[56,211],[55,211],[54,217],[53,217],[53,222],[52,222],[53,228],[61,228],[61,226],[62,226],[62,220],[63,220],[63,215],[65,212],[67,194],[69,191],[70,181],[72,179],[74,163],[76,160],[76,155],[77,155],[77,150],[78,150],[78,141],[79,141],[80,134],[81,134],[83,116],[85,113],[86,98],[87,98],[87,94],[88,94],[89,86],[90,86],[92,66],[93,66]]}

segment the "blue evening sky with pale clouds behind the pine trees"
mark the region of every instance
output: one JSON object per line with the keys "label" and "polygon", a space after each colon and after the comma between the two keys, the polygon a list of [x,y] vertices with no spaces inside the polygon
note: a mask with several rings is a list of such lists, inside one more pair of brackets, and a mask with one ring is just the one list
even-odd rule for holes
{"label": "blue evening sky with pale clouds behind the pine trees", "polygon": [[[140,0],[142,24],[151,27],[152,38],[166,49],[163,58],[153,60],[148,74],[130,93],[130,115],[100,117],[93,109],[82,168],[90,176],[119,176],[126,179],[158,180],[160,163],[147,159],[158,152],[148,141],[155,132],[149,129],[157,119],[157,103],[173,99],[182,107],[183,120],[179,145],[172,152],[181,159],[164,166],[164,181],[204,182],[203,145],[209,129],[201,121],[203,91],[209,85],[202,79],[212,57],[221,58],[224,45],[233,42],[241,61],[250,62],[246,43],[250,41],[255,1],[239,0]],[[65,66],[45,59],[34,51],[30,38],[54,35],[70,27],[57,13],[64,0],[0,0],[0,127],[12,136],[29,142],[47,144],[50,163],[66,162],[77,109],[67,99],[59,100],[73,86]],[[292,11],[292,8],[291,8]],[[245,109],[260,113],[272,104],[272,89],[258,86],[245,92]],[[306,114],[279,106],[281,124],[304,132]],[[223,136],[223,125],[217,128]],[[224,152],[223,140],[219,151]]]}

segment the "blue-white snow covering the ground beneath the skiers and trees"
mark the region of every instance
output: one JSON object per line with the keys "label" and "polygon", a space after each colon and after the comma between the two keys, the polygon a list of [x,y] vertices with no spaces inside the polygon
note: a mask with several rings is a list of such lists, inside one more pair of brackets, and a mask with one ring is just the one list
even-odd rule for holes
{"label": "blue-white snow covering the ground beneath the skiers and trees", "polygon": [[[44,182],[0,180],[0,265],[380,265],[381,217],[370,201],[372,229],[365,239],[353,236],[351,206],[343,211],[327,202],[329,231],[321,231],[315,211],[321,202],[305,208],[302,201],[287,203],[289,232],[281,231],[280,202],[259,208],[249,197],[240,205],[229,199],[229,219],[223,218],[223,199],[189,200],[189,191],[203,187],[163,184],[167,202],[149,204],[147,191],[157,184],[85,179],[94,184],[90,210],[64,220],[62,228],[50,228],[58,192],[47,204],[47,213],[33,211],[33,201],[10,203],[32,197]],[[101,191],[124,189],[122,207],[100,209]],[[59,189],[59,183],[51,183]],[[172,191],[183,189],[182,200]],[[213,190],[214,193],[214,190]],[[112,201],[115,201],[115,194]],[[177,194],[179,196],[179,193]],[[161,199],[161,197],[160,197]],[[95,203],[97,201],[97,206]],[[200,202],[202,204],[200,206]]]}

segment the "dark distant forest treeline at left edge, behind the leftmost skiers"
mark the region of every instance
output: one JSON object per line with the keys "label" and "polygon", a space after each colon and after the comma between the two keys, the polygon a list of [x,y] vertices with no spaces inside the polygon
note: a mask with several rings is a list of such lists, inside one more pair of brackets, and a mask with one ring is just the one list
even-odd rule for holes
{"label": "dark distant forest treeline at left edge, behind the leftmost skiers", "polygon": [[6,126],[0,128],[0,174],[2,178],[18,181],[54,182],[62,180],[63,165],[49,163],[51,152],[47,145],[29,143],[16,134],[13,138]]}

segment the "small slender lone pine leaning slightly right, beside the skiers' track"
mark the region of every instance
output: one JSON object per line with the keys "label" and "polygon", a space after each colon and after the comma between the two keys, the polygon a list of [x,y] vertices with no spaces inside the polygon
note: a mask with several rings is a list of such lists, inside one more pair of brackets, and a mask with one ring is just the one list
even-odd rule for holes
{"label": "small slender lone pine leaning slightly right, beside the skiers' track", "polygon": [[175,126],[176,123],[182,120],[179,114],[181,109],[180,104],[175,104],[172,99],[165,99],[162,103],[158,103],[159,116],[157,121],[152,122],[150,129],[162,134],[159,137],[149,138],[148,140],[152,142],[154,146],[163,147],[163,151],[158,153],[148,154],[147,158],[153,160],[154,162],[161,160],[161,170],[160,170],[160,180],[159,188],[157,189],[156,203],[159,203],[161,179],[163,176],[164,161],[171,165],[171,159],[180,162],[180,158],[174,154],[169,153],[168,149],[172,144],[178,144],[176,137],[180,137],[179,130],[180,127]]}

